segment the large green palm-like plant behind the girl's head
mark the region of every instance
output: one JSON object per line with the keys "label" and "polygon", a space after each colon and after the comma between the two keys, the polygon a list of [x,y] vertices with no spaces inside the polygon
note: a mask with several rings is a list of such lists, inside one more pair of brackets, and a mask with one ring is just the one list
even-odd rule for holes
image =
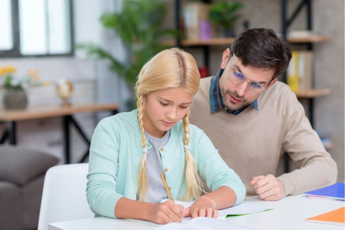
{"label": "large green palm-like plant behind the girl's head", "polygon": [[118,73],[134,87],[136,77],[147,60],[167,47],[160,39],[167,35],[181,36],[176,30],[162,29],[167,7],[156,0],[125,0],[119,13],[105,13],[100,21],[107,29],[115,31],[124,42],[130,61],[119,61],[100,46],[92,43],[77,44],[87,55],[96,60],[110,61],[109,69]]}

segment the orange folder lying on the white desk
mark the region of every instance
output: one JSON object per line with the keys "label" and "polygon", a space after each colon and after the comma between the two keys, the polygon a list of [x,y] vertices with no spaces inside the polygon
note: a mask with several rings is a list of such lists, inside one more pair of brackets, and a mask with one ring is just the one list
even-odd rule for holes
{"label": "orange folder lying on the white desk", "polygon": [[305,221],[316,222],[316,223],[327,223],[327,224],[336,224],[336,225],[344,225],[345,222],[345,207],[326,212],[324,214],[311,217],[306,219]]}

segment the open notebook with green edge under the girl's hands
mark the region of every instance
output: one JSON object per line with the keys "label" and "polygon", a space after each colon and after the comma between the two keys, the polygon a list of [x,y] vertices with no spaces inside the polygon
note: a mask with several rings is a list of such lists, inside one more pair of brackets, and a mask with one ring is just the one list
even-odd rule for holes
{"label": "open notebook with green edge under the girl's hands", "polygon": [[[162,202],[167,201],[167,199],[162,200]],[[194,201],[179,201],[175,200],[176,204],[182,204],[185,209],[191,206]],[[218,210],[218,218],[217,219],[225,219],[227,216],[240,216],[240,215],[246,215],[246,214],[251,214],[251,213],[256,213],[256,212],[263,212],[267,210],[271,210],[273,208],[269,207],[264,207],[264,206],[258,206],[254,204],[245,204],[241,203],[236,206],[230,207],[230,208],[225,208],[225,209],[220,209]],[[186,223],[190,221],[192,218],[191,217],[186,217],[182,220],[182,223]]]}

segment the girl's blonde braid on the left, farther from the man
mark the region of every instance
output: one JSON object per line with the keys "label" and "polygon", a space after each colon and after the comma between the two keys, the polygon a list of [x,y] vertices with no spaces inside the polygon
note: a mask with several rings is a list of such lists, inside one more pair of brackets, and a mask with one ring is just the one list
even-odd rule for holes
{"label": "girl's blonde braid on the left, farther from the man", "polygon": [[[147,156],[147,149],[146,149],[146,138],[145,138],[145,132],[144,132],[144,123],[142,121],[142,118],[144,117],[144,96],[138,94],[138,121],[139,126],[141,130],[141,146],[143,148],[144,154],[141,159],[140,163],[140,169],[138,174],[138,196],[139,201],[145,201],[147,198],[148,193],[148,179],[147,179],[147,173],[146,173],[146,156]],[[146,151],[145,151],[146,150]]]}

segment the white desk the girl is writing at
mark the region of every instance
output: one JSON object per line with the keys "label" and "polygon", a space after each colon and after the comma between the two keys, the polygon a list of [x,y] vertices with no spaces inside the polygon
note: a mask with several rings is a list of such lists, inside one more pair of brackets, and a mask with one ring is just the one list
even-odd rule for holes
{"label": "white desk the girl is writing at", "polygon": [[[305,195],[301,194],[297,196],[288,196],[283,200],[279,201],[263,201],[259,197],[247,197],[244,202],[248,204],[272,207],[274,208],[274,210],[249,214],[245,216],[229,217],[226,219],[226,221],[251,227],[253,229],[263,230],[344,229],[343,226],[311,223],[304,221],[309,217],[317,216],[318,214],[322,214],[343,207],[344,201],[309,199]],[[157,227],[134,222],[131,220],[111,219],[105,217],[65,221],[51,223],[48,225],[48,230],[146,230],[155,228]]]}

